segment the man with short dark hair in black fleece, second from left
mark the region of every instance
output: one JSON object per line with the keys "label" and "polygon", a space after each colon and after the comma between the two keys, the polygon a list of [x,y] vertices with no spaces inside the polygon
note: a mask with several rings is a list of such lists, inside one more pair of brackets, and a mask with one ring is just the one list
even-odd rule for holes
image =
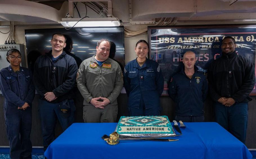
{"label": "man with short dark hair in black fleece, second from left", "polygon": [[65,53],[66,38],[55,33],[52,50],[40,56],[34,67],[34,84],[39,99],[44,150],[55,139],[56,116],[63,130],[74,122],[75,104],[72,88],[77,74],[75,59]]}

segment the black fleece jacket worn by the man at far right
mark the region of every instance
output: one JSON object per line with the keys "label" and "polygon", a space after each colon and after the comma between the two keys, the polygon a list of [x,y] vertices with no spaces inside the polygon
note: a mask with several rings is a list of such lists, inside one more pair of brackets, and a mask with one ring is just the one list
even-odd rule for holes
{"label": "black fleece jacket worn by the man at far right", "polygon": [[208,68],[209,93],[217,102],[232,97],[237,103],[248,102],[255,86],[255,70],[251,61],[233,53],[223,53]]}

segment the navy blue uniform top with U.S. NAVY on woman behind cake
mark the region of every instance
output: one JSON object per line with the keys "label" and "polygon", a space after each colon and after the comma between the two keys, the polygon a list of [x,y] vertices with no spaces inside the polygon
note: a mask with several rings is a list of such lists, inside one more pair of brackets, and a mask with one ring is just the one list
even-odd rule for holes
{"label": "navy blue uniform top with U.S. NAVY on woman behind cake", "polygon": [[125,66],[123,80],[131,116],[160,115],[164,78],[157,62],[146,59],[140,67],[136,59],[130,61]]}

